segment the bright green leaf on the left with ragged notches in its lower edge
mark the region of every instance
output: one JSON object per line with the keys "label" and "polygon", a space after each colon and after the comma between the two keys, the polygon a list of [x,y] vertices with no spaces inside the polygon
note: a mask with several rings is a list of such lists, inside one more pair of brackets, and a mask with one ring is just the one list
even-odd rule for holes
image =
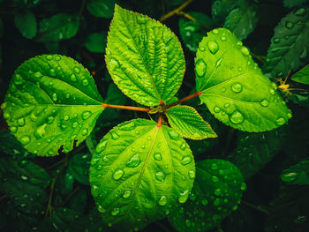
{"label": "bright green leaf on the left with ragged notches in its lower edge", "polygon": [[94,79],[67,56],[35,56],[19,66],[4,104],[11,132],[31,153],[55,155],[78,146],[102,113]]}

